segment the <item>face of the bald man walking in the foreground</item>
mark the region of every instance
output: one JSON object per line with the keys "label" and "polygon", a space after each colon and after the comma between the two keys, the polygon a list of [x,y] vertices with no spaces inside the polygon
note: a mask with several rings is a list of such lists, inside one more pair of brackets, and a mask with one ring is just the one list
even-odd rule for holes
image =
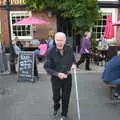
{"label": "face of the bald man walking in the foreground", "polygon": [[55,36],[55,43],[56,43],[56,47],[59,50],[62,50],[64,48],[66,42],[66,38],[62,35],[57,35]]}

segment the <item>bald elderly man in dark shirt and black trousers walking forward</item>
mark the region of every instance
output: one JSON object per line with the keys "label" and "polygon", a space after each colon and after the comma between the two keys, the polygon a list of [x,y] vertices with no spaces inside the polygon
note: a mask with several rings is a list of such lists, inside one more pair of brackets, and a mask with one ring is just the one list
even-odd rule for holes
{"label": "bald elderly man in dark shirt and black trousers walking forward", "polygon": [[58,115],[61,99],[61,120],[67,120],[72,87],[72,76],[70,74],[70,70],[75,68],[75,59],[72,48],[65,45],[66,35],[64,33],[57,32],[55,34],[55,43],[56,46],[53,46],[47,53],[44,68],[48,74],[51,75],[54,102],[53,115]]}

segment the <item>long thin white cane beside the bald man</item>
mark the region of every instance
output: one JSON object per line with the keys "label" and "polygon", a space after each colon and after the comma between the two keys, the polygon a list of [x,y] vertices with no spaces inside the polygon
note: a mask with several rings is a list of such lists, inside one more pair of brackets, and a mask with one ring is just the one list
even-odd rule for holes
{"label": "long thin white cane beside the bald man", "polygon": [[78,114],[78,120],[80,120],[80,106],[79,106],[79,97],[78,97],[78,86],[77,86],[76,68],[73,71],[74,71],[75,92],[76,92],[76,100],[77,100],[77,114]]}

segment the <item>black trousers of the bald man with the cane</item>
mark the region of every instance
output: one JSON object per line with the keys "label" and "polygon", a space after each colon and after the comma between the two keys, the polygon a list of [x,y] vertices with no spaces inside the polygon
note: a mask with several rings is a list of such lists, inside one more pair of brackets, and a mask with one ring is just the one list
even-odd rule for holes
{"label": "black trousers of the bald man with the cane", "polygon": [[60,99],[62,98],[62,116],[67,116],[68,105],[72,87],[72,76],[68,75],[67,79],[59,79],[58,77],[52,77],[52,91],[54,110],[58,110],[60,107]]}

